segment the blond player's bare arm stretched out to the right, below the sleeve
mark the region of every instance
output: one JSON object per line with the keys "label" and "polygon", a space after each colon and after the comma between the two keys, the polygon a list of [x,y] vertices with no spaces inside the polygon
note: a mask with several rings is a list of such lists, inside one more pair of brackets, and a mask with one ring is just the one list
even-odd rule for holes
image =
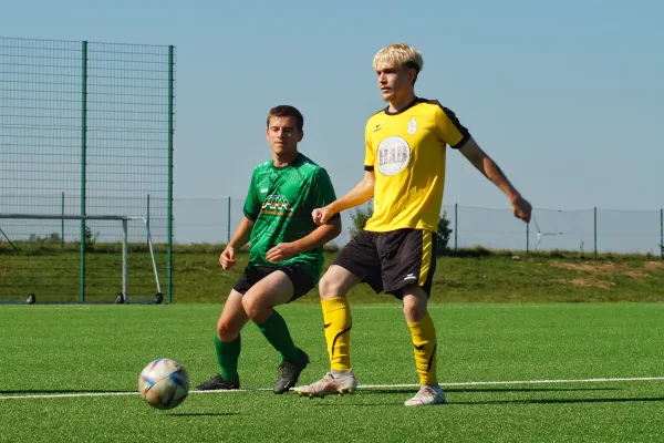
{"label": "blond player's bare arm stretched out to the right, below the sleeve", "polygon": [[485,177],[491,181],[509,199],[512,206],[512,212],[516,217],[522,219],[526,223],[530,222],[530,214],[532,207],[530,203],[526,200],[517,188],[509,182],[502,169],[494,162],[494,159],[483,151],[477,144],[475,138],[468,137],[468,140],[458,147],[459,152],[470,162],[477,171],[479,171]]}

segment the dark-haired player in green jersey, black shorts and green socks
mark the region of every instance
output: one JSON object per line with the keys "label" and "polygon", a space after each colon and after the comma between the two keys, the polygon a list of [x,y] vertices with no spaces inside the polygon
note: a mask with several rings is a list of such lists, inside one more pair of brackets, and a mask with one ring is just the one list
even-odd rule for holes
{"label": "dark-haired player in green jersey, black shorts and green socks", "polygon": [[198,391],[240,387],[240,330],[249,319],[281,354],[274,393],[291,389],[309,363],[274,307],[304,296],[318,284],[322,246],[341,233],[341,218],[321,224],[311,219],[313,209],[336,197],[325,169],[298,151],[304,135],[302,114],[293,106],[277,106],[267,123],[272,159],[253,169],[245,218],[219,257],[221,267],[230,269],[236,249],[251,244],[249,264],[217,322],[215,348],[221,373],[198,385]]}

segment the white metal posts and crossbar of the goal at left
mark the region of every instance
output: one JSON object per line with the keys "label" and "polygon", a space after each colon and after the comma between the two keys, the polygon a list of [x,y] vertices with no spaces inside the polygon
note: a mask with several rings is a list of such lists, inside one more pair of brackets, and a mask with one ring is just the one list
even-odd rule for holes
{"label": "white metal posts and crossbar of the goal at left", "polygon": [[[52,215],[52,214],[0,214],[0,243],[7,243],[8,249],[13,249],[19,253],[20,248],[17,245],[20,245],[21,241],[24,241],[25,238],[17,239],[15,236],[12,241],[12,231],[10,229],[3,229],[3,225],[7,220],[21,220],[23,224],[27,224],[28,220],[61,220],[64,227],[64,220],[97,220],[97,222],[118,222],[122,234],[121,243],[122,243],[122,284],[118,284],[120,291],[115,296],[115,303],[128,303],[128,302],[155,302],[162,303],[164,300],[162,292],[162,285],[159,282],[159,272],[157,270],[157,260],[155,258],[155,249],[152,239],[152,234],[149,229],[149,222],[146,217],[142,216],[120,216],[120,215]],[[149,257],[152,260],[152,270],[154,272],[155,284],[156,284],[156,296],[154,300],[141,300],[141,299],[129,299],[129,281],[128,281],[128,257],[129,257],[129,248],[128,248],[128,231],[129,231],[129,223],[131,222],[142,222],[142,226],[145,227],[146,240],[148,245]],[[14,225],[17,226],[17,225]],[[20,224],[18,226],[21,226]],[[9,230],[9,234],[8,234]],[[64,228],[63,228],[64,230]],[[114,237],[116,238],[116,237]],[[0,269],[2,271],[2,269]],[[84,270],[83,270],[84,272]],[[7,274],[7,271],[6,271]],[[11,276],[7,277],[8,279]],[[80,300],[84,302],[84,291],[81,292]],[[30,293],[28,300],[29,303],[35,302],[34,293]]]}

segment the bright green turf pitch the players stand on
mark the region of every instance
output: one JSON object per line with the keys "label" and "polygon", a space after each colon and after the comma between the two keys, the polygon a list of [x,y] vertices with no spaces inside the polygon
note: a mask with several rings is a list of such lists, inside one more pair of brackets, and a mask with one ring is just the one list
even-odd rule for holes
{"label": "bright green turf pitch the players stand on", "polygon": [[[0,307],[0,441],[664,440],[662,303],[434,303],[446,405],[403,406],[417,380],[395,303],[353,306],[353,367],[362,385],[353,395],[271,393],[278,356],[249,324],[242,391],[191,393],[170,411],[145,404],[137,377],[155,358],[180,361],[194,384],[217,371],[220,309]],[[280,312],[311,357],[300,381],[318,379],[328,369],[320,307]]]}

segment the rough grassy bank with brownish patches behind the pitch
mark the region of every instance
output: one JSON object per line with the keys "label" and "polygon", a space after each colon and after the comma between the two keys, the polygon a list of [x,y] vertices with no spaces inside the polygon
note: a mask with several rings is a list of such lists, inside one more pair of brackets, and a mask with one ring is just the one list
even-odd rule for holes
{"label": "rough grassy bank with brownish patches behind the pitch", "polygon": [[[180,251],[181,249],[181,251]],[[224,271],[217,262],[221,246],[176,250],[174,257],[174,301],[176,303],[222,302],[247,262],[238,255],[238,266]],[[187,253],[187,250],[189,250]],[[520,253],[464,250],[438,258],[433,301],[664,301],[664,261],[654,256],[601,255],[596,260],[571,253]],[[326,265],[334,253],[325,255]],[[121,256],[112,250],[87,255],[87,299],[112,301],[122,289]],[[164,257],[158,268],[162,285]],[[24,299],[35,292],[38,300],[77,300],[80,259],[75,251],[46,251],[39,255],[0,254],[0,299]],[[149,255],[129,256],[131,298],[153,298],[156,285]],[[353,289],[355,302],[391,302],[366,286]],[[318,290],[299,302],[318,302]]]}

